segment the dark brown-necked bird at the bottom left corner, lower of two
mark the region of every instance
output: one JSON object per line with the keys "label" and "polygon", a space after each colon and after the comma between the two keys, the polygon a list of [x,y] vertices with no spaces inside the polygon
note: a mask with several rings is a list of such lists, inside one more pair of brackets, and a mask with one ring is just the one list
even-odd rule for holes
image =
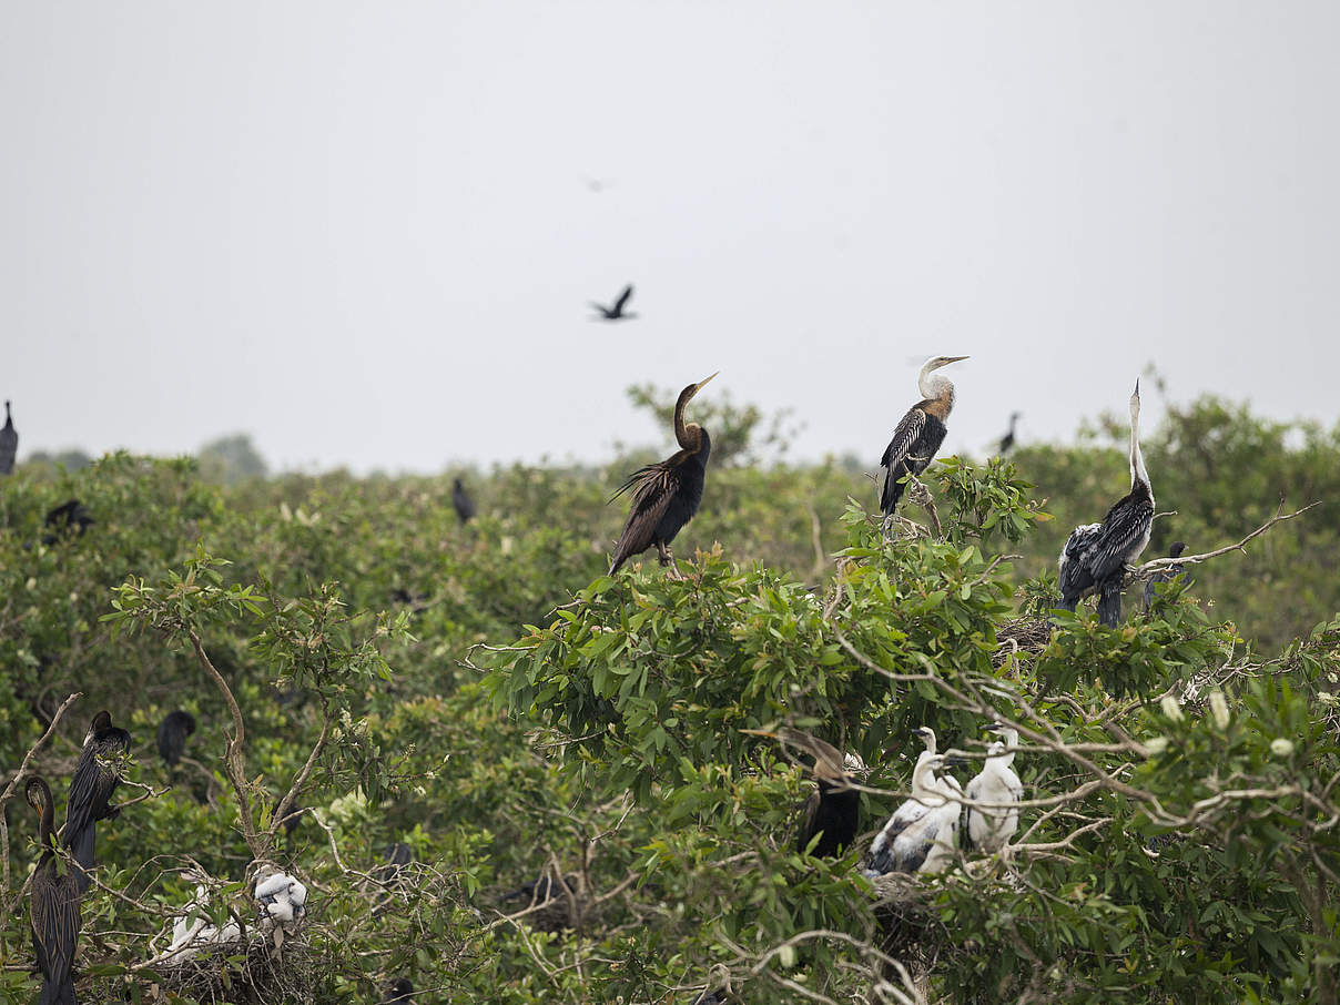
{"label": "dark brown-necked bird at the bottom left corner, lower of two", "polygon": [[79,887],[68,872],[56,867],[55,804],[46,779],[34,776],[24,788],[28,805],[38,811],[38,843],[42,858],[32,874],[29,914],[32,918],[32,951],[42,972],[38,1005],[75,1005],[75,943],[83,919],[79,913]]}

